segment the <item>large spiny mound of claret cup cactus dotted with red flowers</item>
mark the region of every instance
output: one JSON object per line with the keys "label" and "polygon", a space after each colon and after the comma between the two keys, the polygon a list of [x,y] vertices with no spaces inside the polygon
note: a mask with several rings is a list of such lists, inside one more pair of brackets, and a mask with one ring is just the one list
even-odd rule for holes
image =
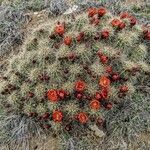
{"label": "large spiny mound of claret cup cactus dotted with red flowers", "polygon": [[6,114],[50,131],[101,126],[104,112],[133,94],[138,76],[149,71],[149,37],[134,16],[105,8],[44,22],[1,76]]}

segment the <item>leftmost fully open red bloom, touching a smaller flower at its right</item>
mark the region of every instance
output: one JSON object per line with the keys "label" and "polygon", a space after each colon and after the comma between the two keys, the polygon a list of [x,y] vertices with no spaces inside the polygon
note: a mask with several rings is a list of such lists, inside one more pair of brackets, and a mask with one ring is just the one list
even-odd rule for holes
{"label": "leftmost fully open red bloom, touching a smaller flower at its right", "polygon": [[51,102],[57,102],[59,100],[57,90],[49,90],[47,92],[47,97]]}

